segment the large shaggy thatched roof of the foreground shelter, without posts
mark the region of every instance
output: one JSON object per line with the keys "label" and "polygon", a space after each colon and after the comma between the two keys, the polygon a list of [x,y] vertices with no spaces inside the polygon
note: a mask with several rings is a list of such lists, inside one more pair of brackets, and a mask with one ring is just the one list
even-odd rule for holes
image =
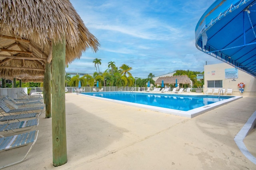
{"label": "large shaggy thatched roof of the foreground shelter, without posts", "polygon": [[44,76],[52,43],[66,38],[66,64],[100,46],[68,0],[0,1],[0,77]]}

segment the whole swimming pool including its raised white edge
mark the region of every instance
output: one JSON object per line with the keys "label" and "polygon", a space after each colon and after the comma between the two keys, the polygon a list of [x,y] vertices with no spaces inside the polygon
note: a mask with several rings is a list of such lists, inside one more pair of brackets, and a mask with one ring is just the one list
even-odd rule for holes
{"label": "whole swimming pool including its raised white edge", "polygon": [[154,111],[195,117],[216,106],[229,103],[240,97],[214,95],[180,95],[166,93],[96,92],[82,93],[98,99],[114,101],[125,105],[142,107]]}

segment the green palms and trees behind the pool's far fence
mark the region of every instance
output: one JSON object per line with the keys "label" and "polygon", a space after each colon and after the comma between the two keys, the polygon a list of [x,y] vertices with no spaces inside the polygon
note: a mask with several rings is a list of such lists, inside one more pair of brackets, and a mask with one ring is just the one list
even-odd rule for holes
{"label": "green palms and trees behind the pool's far fence", "polygon": [[[93,73],[93,75],[86,74],[82,77],[79,75],[71,77],[69,74],[66,74],[66,85],[70,87],[78,87],[78,82],[81,82],[81,86],[96,86],[96,83],[98,81],[99,86],[128,86],[132,87],[146,87],[146,84],[148,81],[150,81],[150,84],[155,83],[153,80],[152,73],[149,73],[148,78],[141,79],[139,77],[133,77],[130,71],[132,70],[132,67],[123,64],[120,67],[117,67],[114,61],[108,62],[108,69],[106,69],[104,72],[100,71],[99,65],[101,65],[101,59],[94,59],[92,61],[94,63],[94,67],[96,67],[96,71]],[[176,73],[174,75],[188,75],[188,77],[191,79],[191,81],[194,84],[194,87],[202,87],[203,82],[197,81],[196,74],[200,74],[199,71],[189,71],[189,70],[176,70]],[[136,81],[135,81],[136,80]]]}

